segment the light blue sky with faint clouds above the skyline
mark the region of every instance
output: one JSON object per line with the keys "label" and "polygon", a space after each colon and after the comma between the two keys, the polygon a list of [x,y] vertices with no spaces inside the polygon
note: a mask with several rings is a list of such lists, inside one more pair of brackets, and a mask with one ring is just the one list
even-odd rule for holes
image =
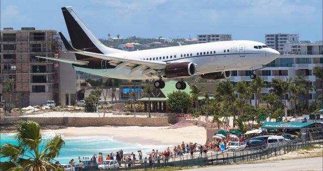
{"label": "light blue sky with faint clouds above the skyline", "polygon": [[231,34],[264,42],[265,34],[323,40],[322,0],[0,0],[0,27],[35,27],[68,37],[61,7],[74,12],[98,38],[194,38]]}

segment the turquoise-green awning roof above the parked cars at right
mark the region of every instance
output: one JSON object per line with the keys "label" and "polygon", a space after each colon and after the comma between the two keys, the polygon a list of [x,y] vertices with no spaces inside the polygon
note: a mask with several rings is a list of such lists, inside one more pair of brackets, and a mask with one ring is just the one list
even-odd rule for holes
{"label": "turquoise-green awning roof above the parked cars at right", "polygon": [[299,129],[306,128],[315,125],[315,122],[265,122],[262,124],[261,128],[271,129],[271,128],[289,128],[289,129]]}

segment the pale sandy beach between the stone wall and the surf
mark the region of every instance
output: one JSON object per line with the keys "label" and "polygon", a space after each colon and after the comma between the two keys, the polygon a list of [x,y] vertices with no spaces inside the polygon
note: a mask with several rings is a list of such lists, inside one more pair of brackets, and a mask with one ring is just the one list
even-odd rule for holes
{"label": "pale sandy beach between the stone wall and the surf", "polygon": [[[169,127],[69,127],[66,129],[44,130],[42,132],[61,133],[63,136],[113,136],[121,142],[139,143],[142,145],[178,145],[196,142],[204,144],[206,130],[203,127],[190,126],[178,129]],[[95,139],[93,139],[95,141]]]}

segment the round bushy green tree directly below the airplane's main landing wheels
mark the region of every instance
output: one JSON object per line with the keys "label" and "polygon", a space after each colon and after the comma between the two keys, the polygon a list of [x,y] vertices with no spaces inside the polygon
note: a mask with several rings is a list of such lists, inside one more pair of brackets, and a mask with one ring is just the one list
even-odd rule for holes
{"label": "round bushy green tree directly below the airplane's main landing wheels", "polygon": [[167,106],[172,110],[181,110],[184,113],[185,108],[192,106],[193,100],[191,96],[183,91],[176,91],[167,95]]}

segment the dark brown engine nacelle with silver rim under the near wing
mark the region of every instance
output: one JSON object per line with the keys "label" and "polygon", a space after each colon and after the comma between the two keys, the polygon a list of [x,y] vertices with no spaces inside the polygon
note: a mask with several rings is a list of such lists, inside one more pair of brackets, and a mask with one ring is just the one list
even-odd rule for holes
{"label": "dark brown engine nacelle with silver rim under the near wing", "polygon": [[176,78],[176,77],[190,77],[196,73],[195,64],[192,62],[181,62],[169,64],[165,68],[165,77]]}

